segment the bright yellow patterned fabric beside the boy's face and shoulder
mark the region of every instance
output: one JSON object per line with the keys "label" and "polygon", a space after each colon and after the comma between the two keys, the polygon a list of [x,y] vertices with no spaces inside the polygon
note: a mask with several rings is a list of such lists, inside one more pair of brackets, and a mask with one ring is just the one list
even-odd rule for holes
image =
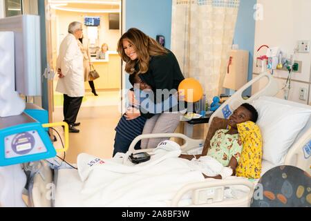
{"label": "bright yellow patterned fabric beside the boy's face and shoulder", "polygon": [[258,179],[261,177],[263,157],[261,131],[254,122],[244,122],[238,124],[237,127],[243,150],[236,168],[236,176]]}

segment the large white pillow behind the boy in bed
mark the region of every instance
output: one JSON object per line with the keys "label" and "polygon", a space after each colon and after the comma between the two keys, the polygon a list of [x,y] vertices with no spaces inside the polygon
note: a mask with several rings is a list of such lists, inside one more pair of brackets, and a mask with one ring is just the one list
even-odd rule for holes
{"label": "large white pillow behind the boy in bed", "polygon": [[259,97],[252,105],[258,111],[256,124],[263,137],[263,160],[281,164],[301,129],[308,122],[311,108],[297,106],[276,97]]}

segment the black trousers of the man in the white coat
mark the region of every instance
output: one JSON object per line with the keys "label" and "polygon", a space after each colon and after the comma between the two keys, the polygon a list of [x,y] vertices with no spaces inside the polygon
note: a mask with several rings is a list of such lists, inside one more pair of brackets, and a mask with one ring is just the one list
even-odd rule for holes
{"label": "black trousers of the man in the white coat", "polygon": [[68,125],[75,123],[83,97],[69,97],[64,95],[64,122]]}

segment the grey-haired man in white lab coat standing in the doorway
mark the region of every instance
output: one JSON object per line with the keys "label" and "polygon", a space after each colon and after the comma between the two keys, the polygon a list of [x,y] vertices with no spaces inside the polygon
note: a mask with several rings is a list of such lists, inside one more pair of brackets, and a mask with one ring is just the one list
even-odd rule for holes
{"label": "grey-haired man in white lab coat standing in the doorway", "polygon": [[82,23],[70,23],[57,57],[56,91],[64,94],[64,122],[68,123],[70,133],[79,133],[75,128],[79,123],[75,121],[84,96],[83,54],[77,42],[82,34]]}

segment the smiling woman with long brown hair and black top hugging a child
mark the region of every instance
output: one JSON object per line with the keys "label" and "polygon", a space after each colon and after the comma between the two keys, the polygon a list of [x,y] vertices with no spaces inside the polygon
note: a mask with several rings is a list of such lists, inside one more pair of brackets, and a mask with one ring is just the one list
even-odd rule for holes
{"label": "smiling woman with long brown hair and black top hugging a child", "polygon": [[[157,90],[178,90],[178,85],[185,79],[182,75],[178,61],[173,52],[161,46],[155,39],[147,36],[137,28],[130,28],[122,35],[117,45],[117,52],[126,62],[125,70],[130,75],[138,73],[143,82],[151,86],[153,94]],[[165,95],[164,95],[165,97]],[[153,97],[154,104],[164,102],[162,95]],[[153,113],[142,110],[140,115],[147,117],[143,134],[147,133],[173,133],[180,122],[179,102],[170,106],[167,111]],[[137,115],[126,113],[128,119]],[[130,129],[130,128],[129,128]],[[155,148],[162,139],[142,140],[142,148]]]}

